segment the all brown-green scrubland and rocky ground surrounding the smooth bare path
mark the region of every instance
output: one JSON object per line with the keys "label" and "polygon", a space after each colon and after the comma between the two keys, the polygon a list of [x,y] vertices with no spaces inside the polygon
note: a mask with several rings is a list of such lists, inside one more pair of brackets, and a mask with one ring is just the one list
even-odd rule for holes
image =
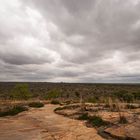
{"label": "all brown-green scrubland and rocky ground surrounding the smooth bare path", "polygon": [[0,83],[1,118],[49,104],[102,139],[140,138],[139,84]]}

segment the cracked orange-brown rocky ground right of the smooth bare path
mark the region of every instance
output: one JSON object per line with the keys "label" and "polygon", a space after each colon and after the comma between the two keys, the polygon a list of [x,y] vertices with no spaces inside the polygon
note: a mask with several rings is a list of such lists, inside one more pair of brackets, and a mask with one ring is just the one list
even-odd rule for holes
{"label": "cracked orange-brown rocky ground right of the smooth bare path", "polygon": [[[86,104],[84,111],[81,111],[80,106],[68,106],[59,108],[56,113],[78,119],[81,114],[88,113],[88,116],[98,115],[104,121],[109,122],[109,125],[96,128],[96,130],[105,138],[109,140],[140,140],[140,108],[137,109],[121,109],[120,112],[110,111],[103,105]],[[127,119],[127,123],[119,123],[119,116],[123,115]],[[88,125],[91,127],[91,125]]]}

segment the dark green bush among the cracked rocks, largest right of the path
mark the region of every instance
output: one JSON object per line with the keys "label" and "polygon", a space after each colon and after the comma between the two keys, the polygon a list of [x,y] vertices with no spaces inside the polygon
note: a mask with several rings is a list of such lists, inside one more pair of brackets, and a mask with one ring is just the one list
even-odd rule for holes
{"label": "dark green bush among the cracked rocks, largest right of the path", "polygon": [[89,122],[95,127],[105,126],[108,124],[108,122],[103,121],[100,116],[89,117]]}

